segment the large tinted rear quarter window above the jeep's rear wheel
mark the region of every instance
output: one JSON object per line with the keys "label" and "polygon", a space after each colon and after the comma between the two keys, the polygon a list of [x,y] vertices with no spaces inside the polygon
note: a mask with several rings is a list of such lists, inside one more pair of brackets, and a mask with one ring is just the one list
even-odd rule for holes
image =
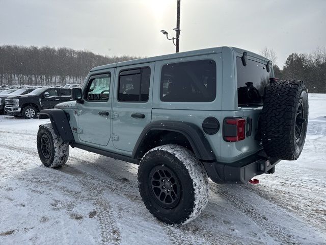
{"label": "large tinted rear quarter window above the jeep's rear wheel", "polygon": [[161,70],[164,102],[211,102],[216,97],[216,63],[197,60],[166,64]]}

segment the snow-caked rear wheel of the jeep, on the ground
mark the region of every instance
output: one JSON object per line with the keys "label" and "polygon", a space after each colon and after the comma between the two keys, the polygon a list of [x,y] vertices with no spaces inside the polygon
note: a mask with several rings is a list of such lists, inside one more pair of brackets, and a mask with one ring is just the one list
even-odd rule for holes
{"label": "snow-caked rear wheel of the jeep, on the ground", "polygon": [[[158,172],[162,170],[165,176],[159,176],[162,177],[158,180],[159,183],[162,183],[164,178],[166,181],[171,181],[169,183],[174,182],[171,190],[176,190],[177,202],[172,203],[172,206],[162,204],[168,199],[168,194],[164,201],[158,200],[163,194],[160,193],[159,197],[157,192],[155,194],[153,188],[157,191],[158,182],[154,180],[155,184],[152,185],[152,180],[157,172],[153,173],[157,169]],[[169,169],[170,174],[172,173],[170,180],[167,179],[169,174],[166,169]],[[176,183],[179,183],[179,189],[175,189]],[[146,208],[154,217],[169,225],[188,223],[202,212],[208,202],[209,184],[206,170],[191,151],[180,145],[167,144],[148,151],[141,159],[138,168],[138,186]],[[163,192],[162,188],[165,187],[158,188]],[[168,191],[167,188],[165,191]],[[170,194],[173,197],[172,193]]]}

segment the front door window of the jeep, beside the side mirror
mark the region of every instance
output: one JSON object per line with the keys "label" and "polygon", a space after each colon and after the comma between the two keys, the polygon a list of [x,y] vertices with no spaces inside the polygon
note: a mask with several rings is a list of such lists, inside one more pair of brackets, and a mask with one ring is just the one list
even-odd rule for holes
{"label": "front door window of the jeep, beside the side mirror", "polygon": [[108,101],[111,74],[96,76],[88,82],[85,96],[88,101]]}

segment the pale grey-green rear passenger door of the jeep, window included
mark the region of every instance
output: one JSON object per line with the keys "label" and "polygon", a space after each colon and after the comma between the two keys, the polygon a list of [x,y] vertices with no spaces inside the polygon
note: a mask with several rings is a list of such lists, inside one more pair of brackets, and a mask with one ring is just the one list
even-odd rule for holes
{"label": "pale grey-green rear passenger door of the jeep, window included", "polygon": [[141,132],[151,121],[154,64],[116,69],[112,108],[112,141],[116,149],[132,152]]}

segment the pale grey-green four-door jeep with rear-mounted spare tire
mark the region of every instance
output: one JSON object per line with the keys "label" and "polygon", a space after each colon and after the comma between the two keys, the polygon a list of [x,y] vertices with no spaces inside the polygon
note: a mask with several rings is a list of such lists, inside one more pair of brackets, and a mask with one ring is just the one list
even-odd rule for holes
{"label": "pale grey-green four-door jeep with rear-mounted spare tire", "polygon": [[72,97],[40,111],[51,121],[37,135],[42,163],[62,166],[70,145],[139,164],[145,206],[167,224],[201,213],[208,178],[246,183],[296,160],[307,131],[304,83],[235,47],[95,67]]}

